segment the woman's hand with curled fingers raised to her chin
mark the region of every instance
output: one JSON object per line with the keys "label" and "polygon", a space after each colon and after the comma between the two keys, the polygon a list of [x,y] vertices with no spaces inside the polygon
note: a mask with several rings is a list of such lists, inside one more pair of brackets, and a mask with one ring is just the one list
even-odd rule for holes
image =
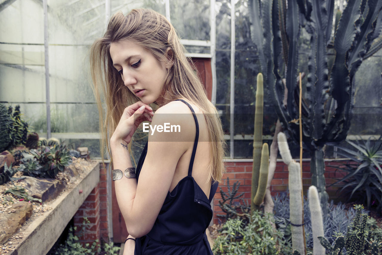
{"label": "woman's hand with curled fingers raised to her chin", "polygon": [[142,101],[126,107],[110,140],[123,140],[129,143],[139,124],[143,121],[151,121],[153,115],[152,108]]}

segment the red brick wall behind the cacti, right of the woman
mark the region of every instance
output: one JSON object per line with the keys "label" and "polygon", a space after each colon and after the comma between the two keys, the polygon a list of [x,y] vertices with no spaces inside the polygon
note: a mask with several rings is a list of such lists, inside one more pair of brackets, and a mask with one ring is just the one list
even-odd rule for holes
{"label": "red brick wall behind the cacti, right of the woman", "polygon": [[[251,180],[252,180],[252,163],[253,162],[225,162],[225,166],[227,167],[227,172],[223,175],[222,183],[220,183],[218,190],[214,197],[214,223],[219,224],[221,219],[217,217],[217,214],[224,214],[222,209],[219,207],[219,200],[221,200],[220,188],[227,192],[227,177],[230,179],[230,186],[232,188],[233,183],[235,181],[240,182],[240,187],[238,190],[238,194],[244,193],[243,198],[245,200],[250,201],[251,199]],[[345,176],[345,173],[342,171],[333,168],[335,165],[342,165],[344,162],[341,161],[325,161],[325,180],[326,180],[326,191],[329,194],[329,199],[333,199],[338,201],[340,199],[340,194],[336,193],[336,191],[340,188],[338,186],[330,186],[328,185],[334,183],[337,178]],[[306,195],[306,191],[311,185],[311,173],[310,173],[310,161],[303,161],[303,190],[304,195]],[[288,166],[285,165],[284,162],[280,161],[276,164],[276,170],[274,177],[271,182],[270,192],[271,195],[274,196],[279,192],[285,192],[288,189]],[[240,200],[237,201],[240,203]]]}

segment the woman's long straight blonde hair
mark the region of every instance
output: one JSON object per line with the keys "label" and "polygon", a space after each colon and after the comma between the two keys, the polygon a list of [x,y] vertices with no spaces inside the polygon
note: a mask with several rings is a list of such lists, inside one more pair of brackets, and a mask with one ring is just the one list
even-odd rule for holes
{"label": "woman's long straight blonde hair", "polygon": [[[122,13],[113,15],[104,37],[97,39],[91,46],[90,68],[100,115],[101,155],[104,155],[105,147],[110,152],[108,133],[112,134],[117,127],[123,110],[139,101],[139,98],[124,86],[121,75],[113,67],[110,57],[110,44],[122,40],[129,40],[144,47],[160,62],[168,60],[166,51],[171,50],[173,66],[168,69],[163,84],[165,100],[185,98],[197,105],[204,114],[208,114],[209,118],[205,119],[212,155],[209,175],[214,181],[221,181],[225,143],[220,118],[186,59],[185,48],[181,45],[174,27],[163,15],[153,10],[136,9],[126,16]],[[106,106],[106,113],[102,105]]]}

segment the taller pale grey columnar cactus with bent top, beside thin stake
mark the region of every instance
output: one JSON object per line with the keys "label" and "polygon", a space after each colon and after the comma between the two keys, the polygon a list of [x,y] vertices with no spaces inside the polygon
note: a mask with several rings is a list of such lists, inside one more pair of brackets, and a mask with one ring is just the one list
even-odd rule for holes
{"label": "taller pale grey columnar cactus with bent top, beside thin stake", "polygon": [[303,183],[301,181],[300,165],[292,159],[288,142],[283,132],[278,133],[278,150],[286,165],[288,165],[289,185],[289,208],[292,231],[292,249],[305,254],[304,230],[303,230],[303,201],[301,192]]}

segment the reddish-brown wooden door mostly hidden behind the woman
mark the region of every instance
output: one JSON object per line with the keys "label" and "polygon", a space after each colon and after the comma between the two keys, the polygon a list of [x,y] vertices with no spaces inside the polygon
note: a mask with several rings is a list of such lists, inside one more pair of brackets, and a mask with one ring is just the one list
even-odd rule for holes
{"label": "reddish-brown wooden door mostly hidden behind the woman", "polygon": [[[196,72],[204,85],[209,100],[212,95],[212,71],[210,58],[192,58],[196,67]],[[123,243],[128,236],[125,220],[118,207],[117,198],[115,197],[114,182],[112,181],[112,216],[113,216],[113,242]],[[149,208],[148,208],[149,210]]]}

